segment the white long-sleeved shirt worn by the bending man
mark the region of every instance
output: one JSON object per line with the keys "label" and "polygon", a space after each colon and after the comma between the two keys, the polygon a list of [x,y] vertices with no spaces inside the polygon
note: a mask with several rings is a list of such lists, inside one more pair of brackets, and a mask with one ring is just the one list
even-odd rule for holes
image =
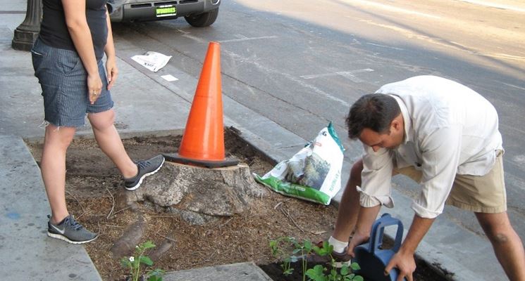
{"label": "white long-sleeved shirt worn by the bending man", "polygon": [[376,93],[393,96],[404,119],[404,142],[377,152],[364,145],[361,205],[393,207],[391,177],[397,168],[421,170],[421,193],[412,209],[421,217],[443,212],[456,174],[483,176],[502,150],[498,113],[475,91],[455,81],[417,76],[386,84]]}

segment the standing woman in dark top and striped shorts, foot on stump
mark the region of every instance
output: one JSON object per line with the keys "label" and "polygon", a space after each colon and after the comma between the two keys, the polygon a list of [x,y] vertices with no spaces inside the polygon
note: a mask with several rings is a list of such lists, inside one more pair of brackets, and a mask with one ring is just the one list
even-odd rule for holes
{"label": "standing woman in dark top and striped shorts, foot on stump", "polygon": [[51,206],[47,234],[73,244],[97,238],[75,221],[66,207],[66,150],[76,127],[84,125],[86,114],[99,147],[123,175],[127,190],[139,188],[164,162],[162,155],[133,162],[113,126],[115,112],[109,90],[118,70],[106,2],[43,0],[39,38],[31,51],[47,124],[40,165]]}

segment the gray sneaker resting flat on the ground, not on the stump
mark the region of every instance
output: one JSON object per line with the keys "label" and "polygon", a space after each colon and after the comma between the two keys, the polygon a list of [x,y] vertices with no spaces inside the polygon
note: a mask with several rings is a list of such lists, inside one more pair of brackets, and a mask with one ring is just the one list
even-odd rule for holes
{"label": "gray sneaker resting flat on the ground, not on the stump", "polygon": [[71,244],[92,242],[98,237],[97,233],[92,233],[80,225],[72,215],[66,216],[57,225],[51,223],[51,216],[48,215],[47,217],[49,218],[47,222],[47,236],[49,237],[64,240]]}

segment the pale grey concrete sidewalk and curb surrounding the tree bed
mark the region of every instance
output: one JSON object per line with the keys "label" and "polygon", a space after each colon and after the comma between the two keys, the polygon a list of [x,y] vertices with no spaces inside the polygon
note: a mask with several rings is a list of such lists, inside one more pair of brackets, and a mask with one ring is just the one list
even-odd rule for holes
{"label": "pale grey concrete sidewalk and curb surrounding the tree bed", "polygon": [[[0,274],[6,280],[100,280],[82,246],[45,235],[49,204],[38,166],[23,143],[23,139],[43,138],[44,129],[39,126],[44,117],[42,96],[33,77],[30,53],[11,48],[13,31],[25,18],[26,2],[0,0],[0,5],[0,204],[4,206],[0,211]],[[121,73],[112,94],[121,136],[182,133],[197,78],[170,64],[157,73],[149,72],[130,57],[151,50],[125,39],[117,38],[116,48]],[[163,74],[179,80],[168,82],[161,78]],[[240,130],[245,140],[276,161],[288,159],[307,142],[227,96],[223,96],[223,105],[225,125]],[[91,134],[89,126],[78,131],[78,136]],[[350,163],[345,162],[345,181],[349,168]],[[409,204],[409,198],[395,190],[393,197],[399,206]],[[409,226],[414,216],[410,209],[383,211],[400,218],[404,226]],[[449,273],[450,279],[502,280],[505,276],[485,238],[446,218],[436,220],[433,230],[417,254]],[[475,254],[480,252],[486,254]]]}

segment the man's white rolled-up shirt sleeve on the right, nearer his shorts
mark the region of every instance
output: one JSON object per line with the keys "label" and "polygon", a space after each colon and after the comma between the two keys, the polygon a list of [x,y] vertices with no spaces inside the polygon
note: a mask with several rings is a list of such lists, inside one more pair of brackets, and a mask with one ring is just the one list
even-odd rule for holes
{"label": "man's white rolled-up shirt sleeve on the right, nearer his shorts", "polygon": [[440,128],[421,141],[421,193],[412,209],[422,218],[436,218],[443,212],[457,172],[461,152],[462,126]]}

